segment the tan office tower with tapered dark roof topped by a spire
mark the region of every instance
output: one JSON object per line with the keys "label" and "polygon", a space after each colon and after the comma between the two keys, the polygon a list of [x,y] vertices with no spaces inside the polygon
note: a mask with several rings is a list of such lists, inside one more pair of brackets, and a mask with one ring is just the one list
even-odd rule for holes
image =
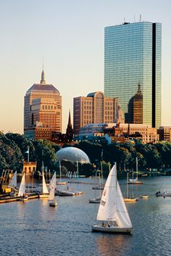
{"label": "tan office tower with tapered dark roof topped by a spire", "polygon": [[52,132],[62,131],[62,97],[57,88],[46,83],[44,71],[41,83],[35,83],[25,94],[24,135],[28,139],[49,139]]}

